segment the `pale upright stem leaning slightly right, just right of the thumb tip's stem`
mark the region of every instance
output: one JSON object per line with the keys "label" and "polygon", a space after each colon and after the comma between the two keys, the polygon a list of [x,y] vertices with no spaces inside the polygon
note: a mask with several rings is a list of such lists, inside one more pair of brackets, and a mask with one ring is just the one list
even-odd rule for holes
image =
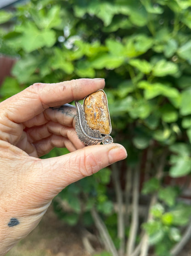
{"label": "pale upright stem leaning slightly right, just right of the thumb tip's stem", "polygon": [[133,180],[133,208],[132,220],[130,225],[129,239],[127,242],[126,255],[129,256],[135,249],[135,241],[139,223],[139,185],[140,185],[140,163],[135,169]]}

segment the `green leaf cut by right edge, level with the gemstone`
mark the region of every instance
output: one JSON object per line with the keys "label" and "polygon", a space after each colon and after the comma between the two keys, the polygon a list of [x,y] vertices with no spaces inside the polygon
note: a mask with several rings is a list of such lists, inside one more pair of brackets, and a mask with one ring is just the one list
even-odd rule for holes
{"label": "green leaf cut by right edge, level with the gemstone", "polygon": [[191,89],[186,89],[182,92],[180,113],[184,116],[191,114]]}

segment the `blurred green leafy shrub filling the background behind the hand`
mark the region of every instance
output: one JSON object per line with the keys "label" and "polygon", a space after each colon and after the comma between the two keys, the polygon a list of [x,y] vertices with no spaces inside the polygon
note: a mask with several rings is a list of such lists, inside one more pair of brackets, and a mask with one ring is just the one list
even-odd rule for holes
{"label": "blurred green leafy shrub filling the background behind the hand", "polygon": [[31,0],[0,23],[0,52],[17,59],[1,100],[36,82],[104,77],[112,136],[128,151],[62,191],[60,218],[94,223],[106,255],[180,255],[191,228],[174,179],[191,173],[191,1]]}

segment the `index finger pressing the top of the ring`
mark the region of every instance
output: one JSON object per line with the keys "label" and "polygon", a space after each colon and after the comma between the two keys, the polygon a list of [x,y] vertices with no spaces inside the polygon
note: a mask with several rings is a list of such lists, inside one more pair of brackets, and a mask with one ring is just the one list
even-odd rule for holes
{"label": "index finger pressing the top of the ring", "polygon": [[103,89],[103,78],[81,78],[61,83],[34,83],[17,95],[2,102],[6,116],[16,123],[25,122],[49,107],[83,99]]}

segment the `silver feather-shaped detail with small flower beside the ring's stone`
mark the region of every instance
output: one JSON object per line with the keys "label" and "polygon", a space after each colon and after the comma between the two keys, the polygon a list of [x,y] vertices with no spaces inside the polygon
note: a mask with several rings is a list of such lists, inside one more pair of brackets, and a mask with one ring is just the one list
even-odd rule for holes
{"label": "silver feather-shaped detail with small flower beside the ring's stone", "polygon": [[100,131],[92,130],[90,126],[87,124],[87,120],[85,119],[84,107],[78,101],[75,101],[76,106],[76,132],[79,139],[85,145],[96,145],[100,143],[109,144],[113,142],[111,136],[106,135],[102,136]]}

